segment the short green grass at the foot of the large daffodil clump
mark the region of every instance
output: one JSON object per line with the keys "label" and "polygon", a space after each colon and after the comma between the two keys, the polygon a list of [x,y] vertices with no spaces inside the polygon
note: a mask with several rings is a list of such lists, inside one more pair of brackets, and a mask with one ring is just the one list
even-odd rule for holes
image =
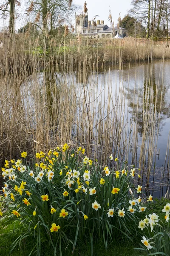
{"label": "short green grass at the foot of the large daffodil clump", "polygon": [[[18,248],[16,247],[14,251],[10,254],[10,246],[14,242],[15,238],[18,236],[18,234],[22,233],[22,230],[19,228],[19,224],[14,224],[12,221],[9,223],[8,220],[8,226],[6,227],[7,219],[0,221],[0,255],[6,256],[28,256],[31,253],[32,248],[34,247],[34,238],[29,237],[27,239],[24,239],[21,246]],[[13,233],[15,225],[15,235]],[[24,230],[23,230],[24,231]],[[2,236],[3,234],[3,236]],[[113,241],[108,247],[108,250],[105,250],[105,246],[102,242],[94,242],[94,256],[139,256],[139,255],[146,255],[144,253],[139,253],[138,251],[134,250],[134,247],[138,247],[138,244],[133,244],[131,242],[129,243],[121,243],[120,241]],[[44,247],[42,247],[43,254],[42,256],[53,256],[54,253],[51,251],[51,247],[48,245],[48,243],[44,244]],[[86,244],[85,241],[78,241],[77,247],[74,250],[74,253],[72,254],[72,248],[67,248],[65,250],[63,248],[62,251],[64,256],[91,256],[91,248],[90,244]],[[31,254],[33,255],[33,254]],[[36,254],[34,254],[36,255]]]}

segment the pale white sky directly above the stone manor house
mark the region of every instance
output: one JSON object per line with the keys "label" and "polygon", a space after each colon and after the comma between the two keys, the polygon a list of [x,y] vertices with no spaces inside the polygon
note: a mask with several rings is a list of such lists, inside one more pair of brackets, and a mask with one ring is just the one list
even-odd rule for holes
{"label": "pale white sky directly above the stone manor house", "polygon": [[[108,26],[110,26],[110,22],[108,21],[109,7],[111,8],[114,24],[118,23],[119,12],[122,19],[131,8],[131,0],[86,0],[86,2],[88,19],[92,20],[94,15],[99,15],[99,17],[96,17],[96,20],[104,20],[105,24],[108,24]],[[73,0],[73,3],[82,6],[83,11],[85,0]]]}

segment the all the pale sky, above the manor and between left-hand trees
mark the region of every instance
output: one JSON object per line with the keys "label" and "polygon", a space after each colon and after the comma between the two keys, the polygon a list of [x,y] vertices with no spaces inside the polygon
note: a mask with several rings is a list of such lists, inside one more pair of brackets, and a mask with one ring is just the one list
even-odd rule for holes
{"label": "all the pale sky, above the manor and between left-hand trees", "polygon": [[[21,6],[18,10],[18,13],[20,13],[20,17],[16,19],[15,30],[24,26],[27,18],[24,13],[28,4],[28,0],[21,0],[20,2]],[[104,20],[105,24],[108,24],[108,26],[110,26],[110,22],[108,21],[110,8],[114,24],[118,23],[117,20],[119,17],[119,12],[121,18],[123,18],[127,14],[127,11],[131,8],[131,0],[86,0],[86,2],[88,8],[88,19],[92,20],[95,15],[99,15],[99,17],[96,17],[96,20]],[[83,11],[85,0],[73,0],[73,3],[81,6],[81,11]],[[79,14],[79,12],[77,12],[77,14]],[[74,23],[74,20],[72,20],[72,24]],[[8,26],[8,19],[3,20],[2,18],[0,18],[0,30],[3,26]]]}

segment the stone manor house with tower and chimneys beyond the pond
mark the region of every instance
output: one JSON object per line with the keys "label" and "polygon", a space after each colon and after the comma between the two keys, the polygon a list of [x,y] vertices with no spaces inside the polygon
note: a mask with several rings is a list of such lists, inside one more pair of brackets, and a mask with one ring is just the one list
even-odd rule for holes
{"label": "stone manor house with tower and chimneys beyond the pond", "polygon": [[[97,20],[97,26],[93,26],[93,22],[88,20],[88,15],[84,15],[83,13],[79,15],[75,15],[76,18],[76,26],[75,32],[77,34],[82,34],[85,37],[92,38],[114,38],[117,34],[119,37],[124,38],[127,36],[127,31],[121,27],[109,27],[105,24],[104,20]],[[114,33],[114,35],[113,35]]]}

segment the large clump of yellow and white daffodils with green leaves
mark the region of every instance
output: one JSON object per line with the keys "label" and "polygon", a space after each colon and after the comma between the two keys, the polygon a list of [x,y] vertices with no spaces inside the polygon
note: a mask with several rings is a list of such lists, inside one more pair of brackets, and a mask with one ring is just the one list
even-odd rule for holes
{"label": "large clump of yellow and white daffodils with green leaves", "polygon": [[[28,230],[11,250],[30,235],[37,239],[38,256],[43,241],[51,243],[54,255],[58,248],[61,255],[61,248],[70,243],[74,250],[77,238],[89,240],[93,250],[94,238],[102,237],[107,248],[110,240],[137,236],[139,217],[135,211],[141,209],[141,197],[135,199],[135,195],[141,193],[142,186],[134,189],[134,166],[123,162],[120,168],[116,158],[112,169],[104,168],[84,153],[85,149],[70,150],[65,144],[47,155],[37,153],[29,163],[26,152],[21,154],[22,160],[6,160],[2,169],[7,180],[5,208],[0,213],[9,209],[8,218],[20,221]],[[112,155],[109,161],[113,161]]]}

